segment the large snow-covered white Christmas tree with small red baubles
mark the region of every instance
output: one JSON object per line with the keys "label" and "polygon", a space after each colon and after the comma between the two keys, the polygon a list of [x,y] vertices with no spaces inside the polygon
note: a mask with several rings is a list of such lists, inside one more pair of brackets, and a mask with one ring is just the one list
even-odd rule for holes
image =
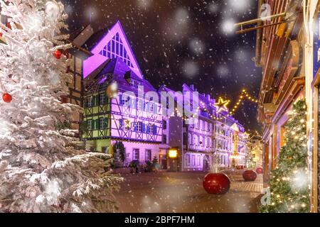
{"label": "large snow-covered white Christmas tree with small red baubles", "polygon": [[0,211],[107,212],[122,178],[109,155],[68,147],[55,126],[80,107],[63,104],[68,26],[63,4],[0,0]]}

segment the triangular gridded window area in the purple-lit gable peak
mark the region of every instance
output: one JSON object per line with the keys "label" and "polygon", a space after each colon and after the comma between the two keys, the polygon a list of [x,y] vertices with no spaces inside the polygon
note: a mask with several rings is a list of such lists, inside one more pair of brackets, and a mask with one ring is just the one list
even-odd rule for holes
{"label": "triangular gridded window area in the purple-lit gable peak", "polygon": [[133,67],[132,60],[130,60],[127,50],[124,48],[122,40],[119,37],[119,33],[114,35],[112,40],[110,40],[110,42],[100,51],[99,54],[112,59],[119,57],[129,67]]}

